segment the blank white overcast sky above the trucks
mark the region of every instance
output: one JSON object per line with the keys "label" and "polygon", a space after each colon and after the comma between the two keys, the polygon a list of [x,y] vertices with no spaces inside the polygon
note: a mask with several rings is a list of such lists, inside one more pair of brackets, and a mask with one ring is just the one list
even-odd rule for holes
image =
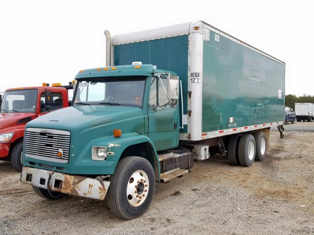
{"label": "blank white overcast sky above the trucks", "polygon": [[2,0],[0,92],[66,85],[79,70],[104,67],[104,29],[115,35],[202,20],[285,61],[286,94],[314,95],[313,9],[287,0]]}

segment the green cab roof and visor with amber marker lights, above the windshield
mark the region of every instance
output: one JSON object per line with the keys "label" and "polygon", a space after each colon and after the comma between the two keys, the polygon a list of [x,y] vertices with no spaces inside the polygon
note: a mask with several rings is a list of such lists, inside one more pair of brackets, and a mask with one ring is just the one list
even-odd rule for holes
{"label": "green cab roof and visor with amber marker lights, above the windshield", "polygon": [[117,76],[151,76],[153,73],[171,73],[177,75],[173,71],[165,71],[154,69],[153,65],[120,65],[110,66],[96,69],[81,70],[75,79],[91,77],[117,77]]}

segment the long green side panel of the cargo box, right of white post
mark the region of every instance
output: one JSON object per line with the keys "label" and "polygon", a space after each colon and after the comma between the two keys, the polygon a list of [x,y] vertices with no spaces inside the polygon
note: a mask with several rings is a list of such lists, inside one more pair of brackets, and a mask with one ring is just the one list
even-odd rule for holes
{"label": "long green side panel of the cargo box, right of white post", "polygon": [[285,65],[211,30],[203,54],[203,133],[284,120]]}

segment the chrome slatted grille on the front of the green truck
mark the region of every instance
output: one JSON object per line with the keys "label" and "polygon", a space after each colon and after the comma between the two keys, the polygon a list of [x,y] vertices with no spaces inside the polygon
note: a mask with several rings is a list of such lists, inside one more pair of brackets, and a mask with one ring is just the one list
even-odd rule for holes
{"label": "chrome slatted grille on the front of the green truck", "polygon": [[[27,128],[24,136],[24,153],[28,158],[56,163],[68,163],[71,133],[69,131]],[[59,157],[59,150],[63,156]]]}

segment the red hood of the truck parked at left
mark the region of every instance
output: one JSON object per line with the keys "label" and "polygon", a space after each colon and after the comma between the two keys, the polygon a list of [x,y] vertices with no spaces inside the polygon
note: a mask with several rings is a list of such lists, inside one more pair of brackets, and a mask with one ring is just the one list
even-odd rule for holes
{"label": "red hood of the truck parked at left", "polygon": [[37,115],[34,113],[0,113],[0,131],[11,126],[25,125],[36,117]]}

